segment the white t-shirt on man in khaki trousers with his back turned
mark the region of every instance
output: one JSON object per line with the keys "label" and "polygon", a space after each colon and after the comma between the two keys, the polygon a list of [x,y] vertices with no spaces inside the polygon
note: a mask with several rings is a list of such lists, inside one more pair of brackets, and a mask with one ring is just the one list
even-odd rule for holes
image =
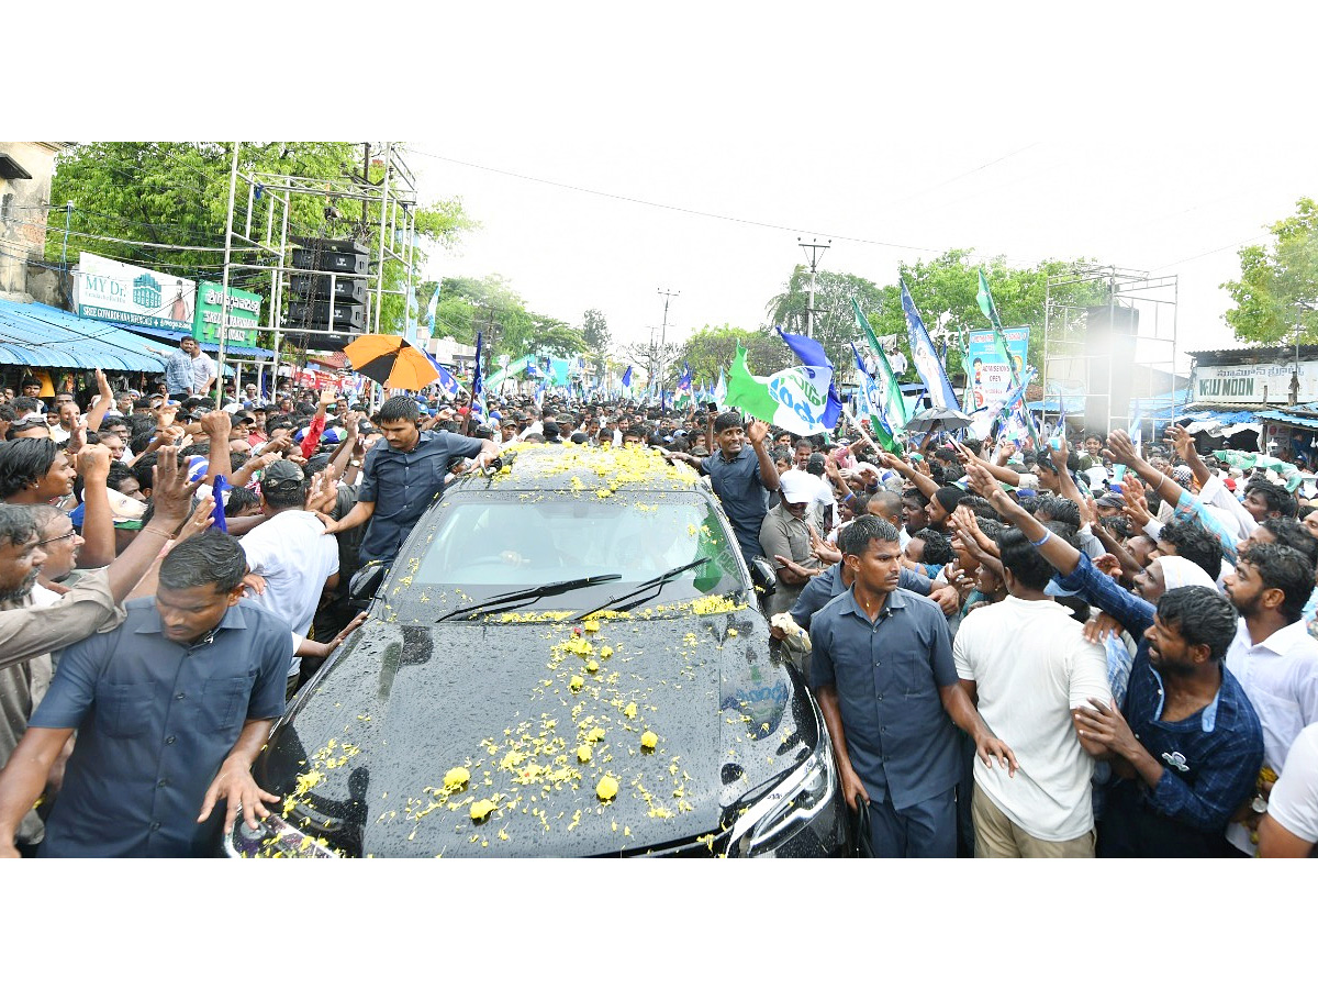
{"label": "white t-shirt on man in khaki trousers with his back turned", "polygon": [[952,646],[957,675],[974,680],[979,715],[1016,753],[1015,777],[975,760],[975,785],[1017,827],[1041,841],[1070,841],[1094,827],[1094,758],[1081,748],[1072,711],[1090,698],[1111,703],[1107,654],[1056,601],[1008,597],[961,620]]}

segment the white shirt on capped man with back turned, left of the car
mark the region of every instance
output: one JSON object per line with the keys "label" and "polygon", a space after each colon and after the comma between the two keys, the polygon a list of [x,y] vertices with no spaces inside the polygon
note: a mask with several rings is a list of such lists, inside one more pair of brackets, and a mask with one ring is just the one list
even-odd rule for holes
{"label": "white shirt on capped man with back turned, left of the car", "polygon": [[[306,636],[326,580],[339,572],[339,543],[312,512],[281,512],[239,541],[253,574],[265,578],[254,601]],[[293,667],[297,669],[298,661]]]}

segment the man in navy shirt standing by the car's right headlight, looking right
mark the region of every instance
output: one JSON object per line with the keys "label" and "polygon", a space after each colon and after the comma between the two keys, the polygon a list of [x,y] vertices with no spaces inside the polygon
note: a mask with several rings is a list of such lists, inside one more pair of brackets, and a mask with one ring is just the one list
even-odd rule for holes
{"label": "man in navy shirt standing by the car's right headlight, looking right", "polygon": [[992,737],[957,676],[934,603],[898,587],[902,549],[891,522],[862,516],[847,529],[851,588],[811,622],[811,688],[838,758],[844,794],[866,800],[879,857],[956,854],[954,787],[961,758],[953,720],[981,758],[1015,756]]}

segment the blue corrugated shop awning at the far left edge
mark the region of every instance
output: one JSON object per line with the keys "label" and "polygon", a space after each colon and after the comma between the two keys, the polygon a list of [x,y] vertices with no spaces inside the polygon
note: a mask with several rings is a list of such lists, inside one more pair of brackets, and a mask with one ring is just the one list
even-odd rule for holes
{"label": "blue corrugated shop awning at the far left edge", "polygon": [[0,299],[0,364],[29,368],[165,371],[141,338],[113,323],[83,319],[40,302]]}

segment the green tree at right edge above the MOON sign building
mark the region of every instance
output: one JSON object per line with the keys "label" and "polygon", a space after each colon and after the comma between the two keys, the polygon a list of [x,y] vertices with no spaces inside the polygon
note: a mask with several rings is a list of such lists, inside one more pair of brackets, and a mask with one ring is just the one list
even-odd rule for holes
{"label": "green tree at right edge above the MOON sign building", "polygon": [[1296,215],[1272,224],[1272,244],[1240,249],[1239,281],[1223,282],[1235,302],[1226,311],[1236,339],[1271,344],[1301,338],[1318,340],[1318,315],[1300,302],[1318,298],[1318,204],[1300,199]]}

